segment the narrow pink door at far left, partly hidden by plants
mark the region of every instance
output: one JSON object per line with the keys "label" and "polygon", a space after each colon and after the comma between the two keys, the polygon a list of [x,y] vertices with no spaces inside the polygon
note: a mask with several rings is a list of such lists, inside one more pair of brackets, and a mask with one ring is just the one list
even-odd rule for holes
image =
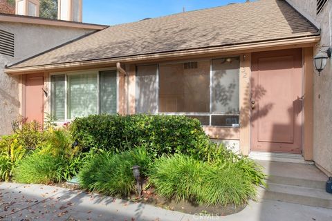
{"label": "narrow pink door at far left, partly hidden by plants", "polygon": [[25,117],[28,118],[28,122],[37,120],[40,124],[44,119],[44,75],[33,74],[26,75],[26,108]]}

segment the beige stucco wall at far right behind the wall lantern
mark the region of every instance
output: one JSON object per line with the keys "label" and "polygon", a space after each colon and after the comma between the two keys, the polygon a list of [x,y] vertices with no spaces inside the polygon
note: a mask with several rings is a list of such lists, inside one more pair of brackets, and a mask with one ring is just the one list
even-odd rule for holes
{"label": "beige stucco wall at far right behind the wall lantern", "polygon": [[[316,0],[287,0],[294,8],[302,13],[309,21],[321,29],[321,41],[314,48],[316,55],[320,50],[331,46],[332,30],[332,1],[329,0],[322,12],[316,15]],[[332,174],[332,59],[330,58],[321,75],[314,74],[314,132],[313,132],[313,160],[326,173]],[[320,97],[320,98],[319,98]]]}

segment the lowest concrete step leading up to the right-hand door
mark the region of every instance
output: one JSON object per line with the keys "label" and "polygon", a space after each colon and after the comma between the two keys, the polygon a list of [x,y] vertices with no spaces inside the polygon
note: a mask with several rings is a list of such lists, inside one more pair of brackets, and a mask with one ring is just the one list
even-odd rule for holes
{"label": "lowest concrete step leading up to the right-hand door", "polygon": [[259,197],[332,209],[332,194],[322,189],[269,183],[268,189],[259,189]]}

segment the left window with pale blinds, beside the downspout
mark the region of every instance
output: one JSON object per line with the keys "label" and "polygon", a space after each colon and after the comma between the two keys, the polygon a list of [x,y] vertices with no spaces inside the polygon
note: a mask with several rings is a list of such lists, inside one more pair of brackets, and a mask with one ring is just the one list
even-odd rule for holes
{"label": "left window with pale blinds, beside the downspout", "polygon": [[51,76],[51,112],[58,121],[117,111],[116,70]]}

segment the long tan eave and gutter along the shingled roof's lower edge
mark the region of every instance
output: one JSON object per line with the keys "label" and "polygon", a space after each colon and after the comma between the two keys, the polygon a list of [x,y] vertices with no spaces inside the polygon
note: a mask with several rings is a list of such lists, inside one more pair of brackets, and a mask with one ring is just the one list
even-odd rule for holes
{"label": "long tan eave and gutter along the shingled roof's lower edge", "polygon": [[106,64],[116,64],[117,62],[135,62],[147,61],[153,59],[170,59],[175,57],[194,56],[194,55],[213,55],[216,53],[235,53],[235,52],[255,52],[261,50],[277,50],[284,48],[304,48],[312,47],[320,41],[320,35],[313,35],[308,37],[297,37],[292,39],[279,39],[273,41],[261,41],[248,44],[237,44],[232,46],[218,46],[211,48],[198,48],[181,50],[174,52],[160,52],[149,55],[133,55],[129,57],[116,57],[108,59],[94,59],[89,61],[75,61],[71,63],[62,64],[46,64],[41,66],[27,66],[21,68],[6,68],[5,73],[11,75],[21,75],[27,73],[44,72],[48,70],[57,70],[62,68],[77,68],[85,66],[102,66]]}

